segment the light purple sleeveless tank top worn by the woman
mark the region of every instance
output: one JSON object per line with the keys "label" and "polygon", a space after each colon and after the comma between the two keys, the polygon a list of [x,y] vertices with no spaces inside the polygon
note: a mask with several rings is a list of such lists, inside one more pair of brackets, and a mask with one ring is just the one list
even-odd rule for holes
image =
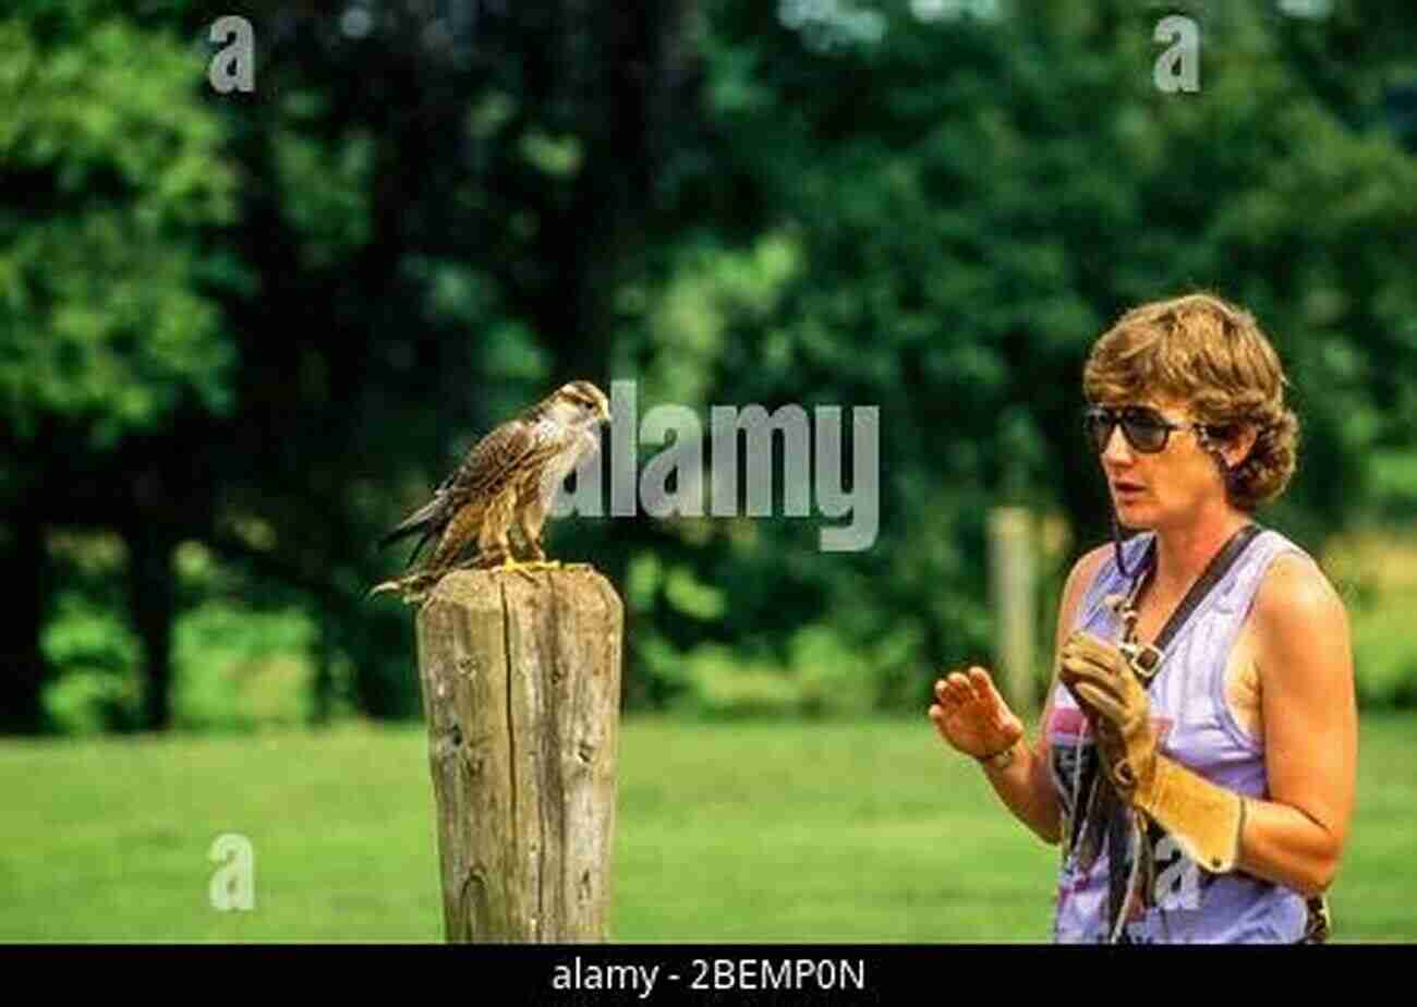
{"label": "light purple sleeveless tank top worn by the woman", "polygon": [[[1142,533],[1122,544],[1129,571],[1138,569],[1153,538],[1153,533]],[[1264,748],[1241,729],[1226,704],[1226,663],[1265,571],[1284,552],[1306,555],[1277,531],[1255,535],[1170,642],[1149,690],[1161,751],[1206,779],[1254,797],[1267,797],[1268,792]],[[1108,557],[1078,605],[1074,629],[1117,640],[1118,618],[1104,599],[1129,589],[1131,579],[1118,572],[1115,557]],[[1063,837],[1054,940],[1110,940],[1117,878],[1138,884],[1119,931],[1125,942],[1295,943],[1304,936],[1308,912],[1298,892],[1243,872],[1210,874],[1155,824],[1136,837],[1152,847],[1155,872],[1149,885],[1132,878],[1136,850],[1129,841],[1088,841],[1078,836],[1083,816],[1074,813],[1074,795],[1091,792],[1098,758],[1087,721],[1061,684],[1053,693],[1046,729],[1049,769],[1068,833]],[[1119,871],[1110,867],[1110,850],[1121,853]]]}

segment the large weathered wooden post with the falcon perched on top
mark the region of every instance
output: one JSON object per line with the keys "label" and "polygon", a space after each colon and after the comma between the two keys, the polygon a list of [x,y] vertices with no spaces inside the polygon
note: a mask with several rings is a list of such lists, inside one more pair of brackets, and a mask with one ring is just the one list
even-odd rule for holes
{"label": "large weathered wooden post with the falcon perched on top", "polygon": [[456,571],[419,609],[449,943],[606,939],[622,625],[589,569]]}

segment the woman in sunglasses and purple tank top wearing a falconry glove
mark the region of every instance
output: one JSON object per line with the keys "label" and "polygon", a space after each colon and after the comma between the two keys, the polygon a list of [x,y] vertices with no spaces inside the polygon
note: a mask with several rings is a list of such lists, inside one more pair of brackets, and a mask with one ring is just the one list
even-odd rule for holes
{"label": "woman in sunglasses and purple tank top wearing a falconry glove", "polygon": [[1253,517],[1294,472],[1278,357],[1195,295],[1125,314],[1083,385],[1114,521],[1141,534],[1074,565],[1033,746],[978,667],[930,717],[1061,844],[1056,940],[1321,940],[1357,712],[1342,602]]}

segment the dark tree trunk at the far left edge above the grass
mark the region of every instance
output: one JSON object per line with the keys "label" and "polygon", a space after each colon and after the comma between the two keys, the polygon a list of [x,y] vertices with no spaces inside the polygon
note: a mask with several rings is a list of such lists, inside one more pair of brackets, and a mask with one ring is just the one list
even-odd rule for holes
{"label": "dark tree trunk at the far left edge above the grass", "polygon": [[48,669],[40,646],[48,602],[48,554],[44,525],[33,516],[13,518],[14,538],[4,548],[10,575],[6,630],[0,635],[0,732],[44,729],[44,681]]}

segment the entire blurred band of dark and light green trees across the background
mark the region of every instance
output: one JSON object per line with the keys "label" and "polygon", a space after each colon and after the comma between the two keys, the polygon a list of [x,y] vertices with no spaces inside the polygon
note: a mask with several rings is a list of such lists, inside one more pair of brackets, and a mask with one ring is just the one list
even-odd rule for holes
{"label": "entire blurred band of dark and light green trees across the background", "polygon": [[[312,613],[316,710],[415,712],[370,544],[572,377],[635,377],[642,411],[881,408],[864,552],[791,518],[553,525],[629,601],[632,704],[731,695],[733,656],[754,702],[913,705],[985,656],[988,507],[1064,513],[1064,561],[1101,538],[1081,363],[1182,289],[1250,306],[1291,365],[1304,469],[1274,523],[1318,548],[1417,499],[1393,465],[1417,429],[1393,135],[1417,30],[1379,4],[248,7],[249,95],[207,85],[218,4],[0,21],[11,729],[40,725],[57,527],[126,542],[146,724],[203,601],[174,582],[184,540],[228,598]],[[1202,24],[1199,93],[1152,85],[1172,7]]]}

